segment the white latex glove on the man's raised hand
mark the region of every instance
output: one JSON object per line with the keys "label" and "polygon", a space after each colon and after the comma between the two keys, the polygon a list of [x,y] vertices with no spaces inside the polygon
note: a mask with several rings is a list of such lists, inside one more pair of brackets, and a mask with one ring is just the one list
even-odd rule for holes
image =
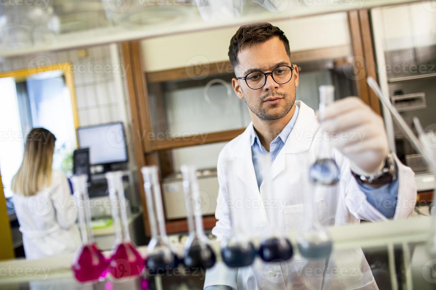
{"label": "white latex glove on the man's raised hand", "polygon": [[331,145],[351,161],[355,173],[370,176],[384,167],[389,145],[383,119],[358,97],[327,106],[321,127],[330,133]]}

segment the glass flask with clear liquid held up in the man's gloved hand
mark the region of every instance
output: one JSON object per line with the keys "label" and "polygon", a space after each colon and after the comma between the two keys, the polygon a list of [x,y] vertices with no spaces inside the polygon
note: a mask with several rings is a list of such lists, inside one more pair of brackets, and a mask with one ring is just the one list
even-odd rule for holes
{"label": "glass flask with clear liquid held up in the man's gloved hand", "polygon": [[[334,86],[320,86],[320,108],[319,121],[322,128],[322,123],[325,118],[325,109],[328,105],[334,102]],[[310,179],[312,182],[324,185],[334,185],[339,181],[340,171],[334,161],[333,151],[330,143],[327,140],[327,132],[321,131],[322,140],[318,152],[318,157],[315,163],[310,167]]]}

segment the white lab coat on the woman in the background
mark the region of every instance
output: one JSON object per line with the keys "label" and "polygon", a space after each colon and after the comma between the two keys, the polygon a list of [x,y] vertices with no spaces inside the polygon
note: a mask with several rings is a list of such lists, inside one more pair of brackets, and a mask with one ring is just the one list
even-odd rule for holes
{"label": "white lab coat on the woman in the background", "polygon": [[27,259],[74,253],[80,246],[77,208],[65,174],[52,170],[51,185],[30,197],[15,193],[14,208]]}

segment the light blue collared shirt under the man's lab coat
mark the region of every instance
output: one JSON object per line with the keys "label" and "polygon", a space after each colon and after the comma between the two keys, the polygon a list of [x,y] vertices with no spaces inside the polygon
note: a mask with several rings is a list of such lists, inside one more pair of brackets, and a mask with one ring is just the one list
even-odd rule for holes
{"label": "light blue collared shirt under the man's lab coat", "polygon": [[[277,155],[279,155],[280,150],[285,146],[286,140],[288,139],[295,122],[298,117],[299,108],[295,104],[295,112],[291,118],[291,120],[286,124],[283,130],[279,133],[279,135],[272,140],[269,144],[269,152],[262,146],[259,141],[259,137],[257,136],[254,127],[251,127],[251,153],[252,153],[252,161],[254,166],[254,172],[256,173],[257,186],[260,188],[262,184],[263,176],[262,170],[260,168],[260,160],[259,158],[262,155],[269,155],[271,158],[271,163],[274,162]],[[371,188],[369,186],[358,185],[360,190],[366,195],[368,202],[375,207],[380,213],[382,213],[387,218],[394,217],[395,214],[395,205],[397,202],[398,196],[398,186],[399,181],[398,178],[391,183],[385,184],[378,188]],[[391,206],[384,207],[384,204],[389,204]]]}

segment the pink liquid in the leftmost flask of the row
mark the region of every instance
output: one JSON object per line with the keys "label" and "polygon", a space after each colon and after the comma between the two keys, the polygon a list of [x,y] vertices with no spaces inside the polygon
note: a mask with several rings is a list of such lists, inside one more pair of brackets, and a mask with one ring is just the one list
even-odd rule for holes
{"label": "pink liquid in the leftmost flask of the row", "polygon": [[78,255],[73,260],[72,270],[80,282],[98,280],[105,277],[109,261],[95,244],[82,245]]}

